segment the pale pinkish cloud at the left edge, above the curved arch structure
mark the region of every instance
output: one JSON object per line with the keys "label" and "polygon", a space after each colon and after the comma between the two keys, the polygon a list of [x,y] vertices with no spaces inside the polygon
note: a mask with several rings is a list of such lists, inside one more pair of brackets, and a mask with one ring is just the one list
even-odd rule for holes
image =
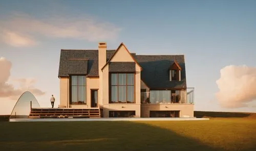
{"label": "pale pinkish cloud at the left edge, above the curved arch structure", "polygon": [[44,95],[45,92],[34,88],[33,84],[36,82],[35,79],[15,79],[14,82],[19,84],[19,88],[15,89],[12,84],[8,84],[7,81],[11,75],[12,63],[5,58],[0,58],[0,97],[8,97],[16,100],[23,92],[30,91],[34,95]]}

